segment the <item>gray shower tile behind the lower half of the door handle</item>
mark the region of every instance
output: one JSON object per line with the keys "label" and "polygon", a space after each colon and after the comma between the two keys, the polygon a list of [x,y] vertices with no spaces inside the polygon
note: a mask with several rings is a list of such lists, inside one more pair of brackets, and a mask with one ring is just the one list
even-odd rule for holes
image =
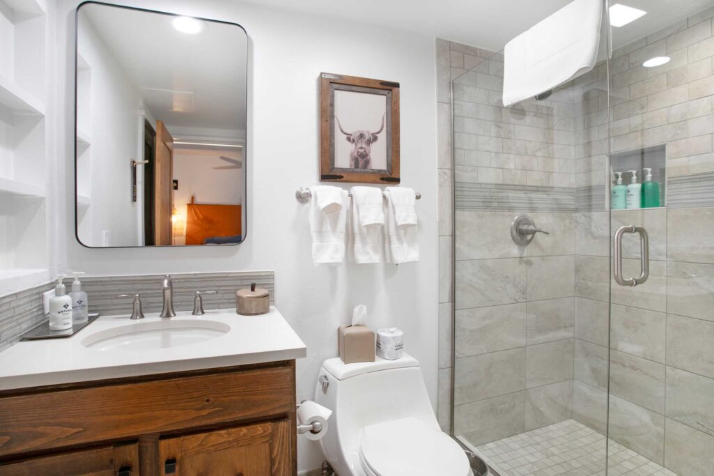
{"label": "gray shower tile behind the lower half of the door handle", "polygon": [[[640,275],[640,259],[623,259],[623,276]],[[615,304],[665,312],[667,308],[667,263],[650,259],[650,276],[638,286],[620,286],[613,277],[611,299]]]}

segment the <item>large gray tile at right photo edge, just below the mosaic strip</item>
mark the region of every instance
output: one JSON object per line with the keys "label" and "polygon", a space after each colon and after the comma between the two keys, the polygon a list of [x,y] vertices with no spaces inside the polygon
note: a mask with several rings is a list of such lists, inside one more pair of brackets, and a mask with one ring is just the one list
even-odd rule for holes
{"label": "large gray tile at right photo edge, just below the mosaic strip", "polygon": [[714,207],[667,211],[667,259],[714,264]]}

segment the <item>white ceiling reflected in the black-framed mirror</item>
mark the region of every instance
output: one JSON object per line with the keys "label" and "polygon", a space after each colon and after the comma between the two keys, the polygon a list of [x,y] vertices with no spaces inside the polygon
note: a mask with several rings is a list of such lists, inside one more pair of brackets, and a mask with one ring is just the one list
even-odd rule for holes
{"label": "white ceiling reflected in the black-framed mirror", "polygon": [[[174,16],[87,4],[83,21],[95,31],[144,96],[156,119],[172,127],[246,129],[246,34],[230,24],[206,22],[183,34]],[[164,90],[164,91],[162,91]],[[166,91],[168,90],[168,91]],[[238,132],[240,131],[240,132]]]}

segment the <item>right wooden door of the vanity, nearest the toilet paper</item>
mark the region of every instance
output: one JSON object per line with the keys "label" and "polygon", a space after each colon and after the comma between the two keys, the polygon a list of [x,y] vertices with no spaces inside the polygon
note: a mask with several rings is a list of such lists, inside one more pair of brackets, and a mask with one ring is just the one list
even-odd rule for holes
{"label": "right wooden door of the vanity, nearest the toilet paper", "polygon": [[159,441],[163,476],[288,476],[291,454],[290,420]]}

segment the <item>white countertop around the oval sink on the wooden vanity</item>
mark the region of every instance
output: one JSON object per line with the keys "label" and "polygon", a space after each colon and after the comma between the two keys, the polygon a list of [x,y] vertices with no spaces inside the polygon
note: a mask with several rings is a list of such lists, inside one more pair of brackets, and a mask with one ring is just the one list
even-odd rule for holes
{"label": "white countertop around the oval sink on the wooden vanity", "polygon": [[[131,320],[128,315],[101,316],[72,337],[18,342],[0,352],[0,390],[258,364],[306,356],[305,344],[275,307],[260,316],[242,316],[234,309],[207,310],[203,316],[192,316],[188,311],[176,314],[170,319],[146,314],[139,320]],[[204,342],[167,348],[102,349],[101,346],[85,345],[96,340],[96,332],[111,335],[130,331],[131,327],[126,326],[147,323],[157,329],[164,325],[180,325],[177,324],[180,321],[193,321],[198,325],[207,321],[206,325],[228,332]],[[190,326],[192,323],[183,324]]]}

